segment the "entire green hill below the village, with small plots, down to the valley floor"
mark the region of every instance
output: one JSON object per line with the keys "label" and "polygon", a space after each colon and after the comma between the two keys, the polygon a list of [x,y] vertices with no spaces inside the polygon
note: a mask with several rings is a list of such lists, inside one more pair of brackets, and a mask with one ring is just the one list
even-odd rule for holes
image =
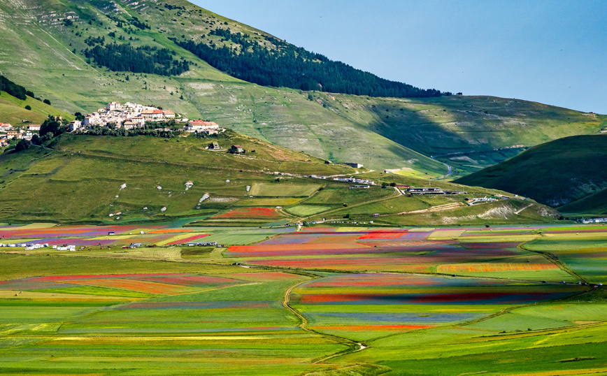
{"label": "entire green hill below the village, with small plots, down to the valley floor", "polygon": [[[223,150],[207,150],[211,142]],[[227,153],[242,145],[245,154]],[[557,212],[534,201],[466,205],[466,197],[504,194],[450,182],[453,196],[406,196],[390,183],[428,180],[326,164],[309,154],[227,131],[201,139],[83,136],[64,133],[45,147],[0,155],[0,221],[99,224],[173,221],[206,226],[266,226],[300,221],[404,224],[552,222]],[[327,179],[308,178],[322,175]],[[335,176],[372,180],[352,189]],[[382,185],[386,185],[383,187]],[[372,213],[380,217],[372,217]]]}

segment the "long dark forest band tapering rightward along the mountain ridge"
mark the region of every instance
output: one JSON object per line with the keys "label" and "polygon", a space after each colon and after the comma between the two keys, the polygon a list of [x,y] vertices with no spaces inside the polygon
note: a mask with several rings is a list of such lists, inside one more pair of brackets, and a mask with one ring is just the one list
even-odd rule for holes
{"label": "long dark forest band tapering rightward along the mountain ridge", "polygon": [[436,89],[420,89],[402,82],[385,80],[276,38],[266,37],[276,47],[269,50],[229,29],[217,29],[209,34],[221,36],[240,48],[219,48],[213,43],[208,45],[177,38],[172,38],[172,41],[211,66],[258,85],[399,98],[427,98],[447,94]]}

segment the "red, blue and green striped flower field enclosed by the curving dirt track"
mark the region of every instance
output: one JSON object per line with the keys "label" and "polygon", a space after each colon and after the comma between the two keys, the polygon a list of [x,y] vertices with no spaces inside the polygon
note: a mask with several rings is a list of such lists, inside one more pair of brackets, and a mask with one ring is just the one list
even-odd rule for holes
{"label": "red, blue and green striped flower field enclosed by the curving dirt track", "polygon": [[294,289],[292,301],[317,331],[355,332],[357,340],[385,331],[461,324],[521,305],[564,298],[583,287],[422,275],[348,274]]}

